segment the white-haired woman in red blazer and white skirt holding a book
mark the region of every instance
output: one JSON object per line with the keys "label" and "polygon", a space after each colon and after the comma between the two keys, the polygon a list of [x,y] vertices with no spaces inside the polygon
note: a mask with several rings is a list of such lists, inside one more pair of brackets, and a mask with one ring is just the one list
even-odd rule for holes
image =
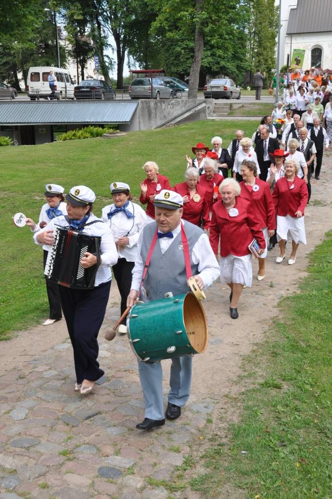
{"label": "white-haired woman in red blazer and white skirt holding a book", "polygon": [[230,317],[237,319],[237,302],[243,286],[251,287],[251,253],[248,246],[255,238],[258,254],[265,249],[265,240],[252,205],[240,198],[241,188],[234,179],[225,179],[219,186],[221,201],[212,208],[210,244],[217,256],[220,240],[220,279],[230,287]]}

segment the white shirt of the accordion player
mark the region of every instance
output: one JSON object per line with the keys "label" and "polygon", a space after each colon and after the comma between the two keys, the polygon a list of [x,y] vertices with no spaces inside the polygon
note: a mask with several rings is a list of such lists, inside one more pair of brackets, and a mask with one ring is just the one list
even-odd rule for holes
{"label": "white shirt of the accordion player", "polygon": [[[117,262],[117,251],[115,247],[115,243],[113,240],[112,233],[110,232],[109,227],[100,219],[95,217],[92,213],[90,214],[87,223],[93,222],[94,220],[99,220],[99,223],[95,223],[89,226],[85,226],[82,230],[82,233],[87,234],[88,236],[100,236],[100,252],[101,252],[101,263],[98,267],[97,273],[95,275],[94,286],[98,286],[103,282],[107,282],[111,279],[111,271],[110,267],[115,265]],[[39,232],[36,232],[33,235],[33,241],[36,245],[41,246],[40,243],[37,242],[38,234],[45,231],[53,231],[55,233],[56,226],[60,227],[68,227],[68,223],[63,215],[60,217],[55,217],[53,220],[49,222],[49,224],[41,229]],[[52,246],[47,246],[47,250],[51,250]]]}

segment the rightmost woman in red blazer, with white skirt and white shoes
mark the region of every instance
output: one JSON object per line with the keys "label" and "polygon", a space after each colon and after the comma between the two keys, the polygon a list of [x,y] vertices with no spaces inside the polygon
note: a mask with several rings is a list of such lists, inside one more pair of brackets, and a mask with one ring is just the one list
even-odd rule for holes
{"label": "rightmost woman in red blazer, with white skirt and white shoes", "polygon": [[285,243],[291,239],[291,253],[288,265],[296,261],[299,243],[306,245],[304,230],[304,208],[308,201],[308,190],[304,180],[296,175],[300,168],[298,161],[289,159],[285,162],[285,176],[277,181],[272,192],[276,211],[276,238],[280,256],[276,263],[285,257]]}

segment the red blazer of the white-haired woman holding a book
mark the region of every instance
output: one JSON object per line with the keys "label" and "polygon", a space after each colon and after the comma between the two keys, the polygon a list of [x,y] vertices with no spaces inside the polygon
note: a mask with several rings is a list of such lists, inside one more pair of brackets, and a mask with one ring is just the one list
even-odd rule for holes
{"label": "red blazer of the white-haired woman holding a book", "polygon": [[212,207],[210,223],[210,245],[217,254],[220,238],[220,255],[244,256],[249,254],[248,245],[256,238],[259,248],[265,249],[264,235],[254,215],[251,203],[236,197],[236,217],[229,217],[222,201],[217,201]]}

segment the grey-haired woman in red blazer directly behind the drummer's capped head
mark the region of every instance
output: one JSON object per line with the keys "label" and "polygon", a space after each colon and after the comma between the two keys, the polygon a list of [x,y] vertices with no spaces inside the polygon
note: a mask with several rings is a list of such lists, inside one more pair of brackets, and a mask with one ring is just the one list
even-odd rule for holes
{"label": "grey-haired woman in red blazer directly behind the drummer's capped head", "polygon": [[197,183],[198,171],[196,168],[188,168],[184,178],[185,182],[174,186],[174,191],[183,198],[182,219],[198,227],[202,222],[204,231],[207,231],[210,225],[209,209],[205,200],[205,189]]}

